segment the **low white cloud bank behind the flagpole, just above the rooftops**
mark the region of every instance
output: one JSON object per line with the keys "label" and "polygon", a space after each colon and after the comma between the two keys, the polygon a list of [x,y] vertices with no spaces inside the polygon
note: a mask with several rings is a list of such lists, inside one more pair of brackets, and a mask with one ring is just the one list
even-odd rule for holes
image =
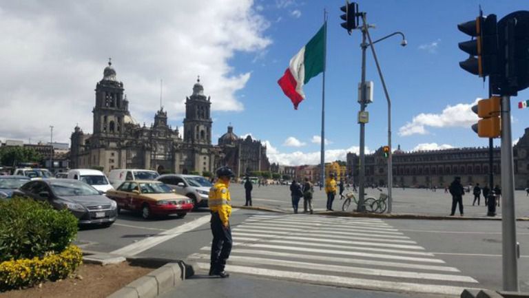
{"label": "low white cloud bank behind the flagpole, just above the rooftops", "polygon": [[[271,143],[266,140],[262,142],[267,146],[267,156],[270,162],[276,162],[286,166],[298,166],[302,164],[320,164],[320,151],[305,153],[302,151],[295,151],[292,153],[280,153],[277,148],[273,147]],[[369,148],[365,149],[366,154],[372,153]],[[347,153],[360,153],[360,147],[353,146],[348,149],[332,149],[325,150],[325,162],[333,162],[335,160],[346,160]]]}

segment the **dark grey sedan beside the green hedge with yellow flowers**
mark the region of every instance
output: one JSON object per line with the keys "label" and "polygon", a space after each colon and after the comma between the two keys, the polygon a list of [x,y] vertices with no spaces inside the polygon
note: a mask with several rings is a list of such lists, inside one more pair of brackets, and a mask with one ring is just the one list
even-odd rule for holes
{"label": "dark grey sedan beside the green hedge with yellow flowers", "polygon": [[37,201],[49,202],[54,209],[68,209],[79,224],[103,224],[116,221],[116,202],[85,182],[73,179],[33,180],[14,191]]}

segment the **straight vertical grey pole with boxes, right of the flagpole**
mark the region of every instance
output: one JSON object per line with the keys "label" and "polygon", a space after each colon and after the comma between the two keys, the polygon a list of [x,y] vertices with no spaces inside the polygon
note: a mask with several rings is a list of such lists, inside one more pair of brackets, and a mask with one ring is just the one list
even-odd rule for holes
{"label": "straight vertical grey pole with boxes, right of the flagpole", "polygon": [[[368,30],[368,25],[366,22],[366,15],[364,12],[362,12],[362,44],[360,47],[362,47],[362,82],[360,83],[360,86],[362,88],[362,92],[360,93],[360,113],[365,111],[366,109],[366,50],[368,47],[368,44],[366,43],[366,33]],[[358,180],[358,206],[357,211],[358,212],[364,212],[366,211],[366,206],[364,206],[364,184],[365,184],[365,173],[366,173],[366,167],[365,167],[365,133],[366,133],[366,127],[365,123],[363,121],[360,121],[360,178]]]}

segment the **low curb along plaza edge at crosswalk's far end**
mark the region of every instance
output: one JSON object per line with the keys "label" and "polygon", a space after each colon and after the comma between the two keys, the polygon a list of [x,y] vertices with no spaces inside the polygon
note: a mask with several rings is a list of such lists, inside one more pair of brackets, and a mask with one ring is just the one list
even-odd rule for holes
{"label": "low curb along plaza edge at crosswalk's far end", "polygon": [[[289,211],[280,209],[271,209],[258,206],[234,206],[238,209],[267,211],[282,214],[292,214]],[[363,213],[363,212],[346,212],[346,211],[315,211],[318,215],[331,215],[342,217],[371,217],[371,218],[386,218],[386,219],[402,219],[402,220],[501,220],[501,217],[496,216],[442,216],[442,215],[428,215],[428,214],[414,214],[414,213]],[[529,221],[529,217],[517,217],[517,221]]]}

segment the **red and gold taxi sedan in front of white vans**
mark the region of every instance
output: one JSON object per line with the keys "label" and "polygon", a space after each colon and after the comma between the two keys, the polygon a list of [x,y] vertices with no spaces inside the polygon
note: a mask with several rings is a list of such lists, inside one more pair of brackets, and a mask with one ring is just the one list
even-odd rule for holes
{"label": "red and gold taxi sedan in front of white vans", "polygon": [[107,196],[116,201],[118,211],[141,211],[145,220],[154,215],[177,214],[184,217],[193,209],[189,198],[175,193],[159,181],[125,181],[116,190],[108,191]]}

